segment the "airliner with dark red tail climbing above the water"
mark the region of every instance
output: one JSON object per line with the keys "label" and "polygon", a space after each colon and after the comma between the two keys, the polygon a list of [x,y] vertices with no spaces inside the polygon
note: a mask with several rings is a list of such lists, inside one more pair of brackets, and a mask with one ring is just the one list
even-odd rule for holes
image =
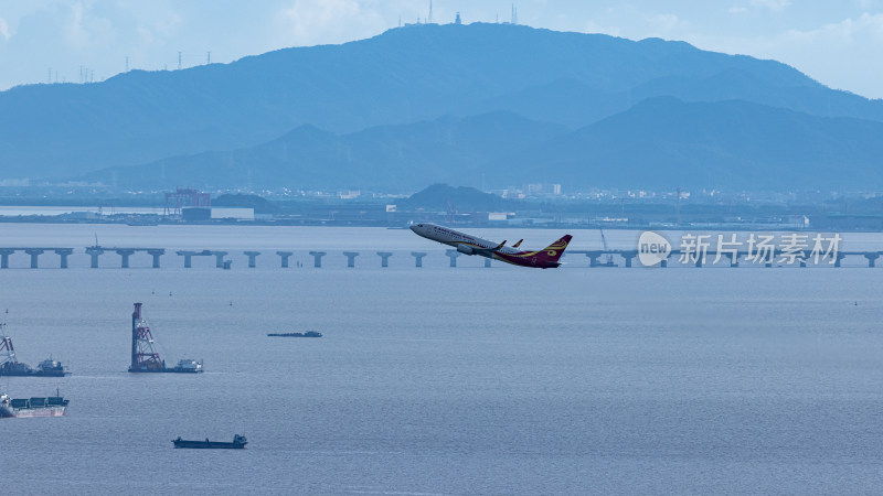
{"label": "airliner with dark red tail climbing above the water", "polygon": [[[565,235],[557,241],[539,251],[519,251],[504,246],[506,241],[498,245],[493,241],[469,236],[468,234],[436,224],[412,224],[411,230],[426,239],[453,246],[461,254],[480,255],[490,259],[512,263],[513,266],[536,267],[540,269],[554,269],[561,266],[558,259],[564,255],[564,249],[567,248],[567,244],[571,242],[571,238],[573,237],[571,235]],[[518,247],[521,245],[521,241],[523,241],[523,239],[518,241],[514,246]]]}

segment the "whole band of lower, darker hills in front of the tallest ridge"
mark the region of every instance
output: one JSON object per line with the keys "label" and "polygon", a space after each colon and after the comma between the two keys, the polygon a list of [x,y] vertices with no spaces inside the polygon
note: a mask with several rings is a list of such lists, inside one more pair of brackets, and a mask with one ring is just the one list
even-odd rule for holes
{"label": "whole band of lower, darker hills in front of the tallest ridge", "polygon": [[883,122],[740,100],[647,99],[568,131],[509,112],[336,134],[304,126],[232,152],[113,168],[81,180],[126,187],[352,187],[408,193],[429,183],[778,190],[883,186]]}

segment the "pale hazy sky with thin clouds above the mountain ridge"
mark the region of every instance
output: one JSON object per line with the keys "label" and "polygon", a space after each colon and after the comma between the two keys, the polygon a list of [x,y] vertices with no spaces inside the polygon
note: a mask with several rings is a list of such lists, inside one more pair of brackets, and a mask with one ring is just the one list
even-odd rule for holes
{"label": "pale hazy sky with thin clouds above the mountain ridge", "polygon": [[[775,58],[833,88],[883,98],[883,0],[522,0],[518,21],[558,31],[683,40]],[[508,21],[511,1],[434,0],[433,19]],[[226,63],[369,37],[428,15],[407,0],[0,0],[0,89],[102,80],[126,68]],[[87,68],[84,72],[83,67]],[[84,74],[86,74],[84,76]]]}

